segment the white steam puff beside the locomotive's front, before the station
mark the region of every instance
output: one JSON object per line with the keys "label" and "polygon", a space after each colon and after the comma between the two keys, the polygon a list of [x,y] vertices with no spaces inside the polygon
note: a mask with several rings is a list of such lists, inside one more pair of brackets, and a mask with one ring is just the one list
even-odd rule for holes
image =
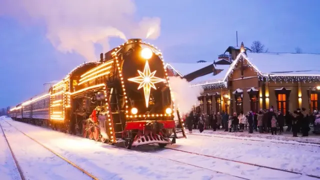
{"label": "white steam puff beside the locomotive's front, before the station", "polygon": [[186,79],[175,76],[169,77],[169,84],[181,115],[188,114],[193,105],[199,105],[198,96],[203,92],[200,86],[190,87],[191,84]]}

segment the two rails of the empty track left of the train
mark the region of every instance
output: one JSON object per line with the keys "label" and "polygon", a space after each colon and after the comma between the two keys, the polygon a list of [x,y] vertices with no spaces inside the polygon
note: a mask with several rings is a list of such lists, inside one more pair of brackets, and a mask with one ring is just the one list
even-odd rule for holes
{"label": "two rails of the empty track left of the train", "polygon": [[[6,120],[3,120],[3,121],[6,122],[6,123],[8,123],[10,126],[12,126],[13,128],[15,128],[17,131],[21,132],[23,135],[25,135],[26,137],[30,138],[32,141],[36,142],[37,144],[39,144],[40,146],[42,146],[42,147],[45,148],[46,150],[48,150],[48,151],[50,151],[51,153],[53,153],[53,154],[55,154],[56,156],[58,156],[60,159],[64,160],[65,162],[67,162],[68,164],[72,165],[73,167],[75,167],[76,169],[78,169],[79,171],[81,171],[82,173],[86,174],[86,175],[89,176],[90,178],[92,178],[92,179],[94,179],[94,180],[98,180],[98,178],[95,177],[93,174],[91,174],[91,173],[89,173],[88,171],[84,170],[83,168],[79,167],[78,165],[76,165],[75,163],[71,162],[71,161],[68,160],[67,158],[63,157],[62,155],[58,154],[58,153],[55,152],[54,150],[48,148],[48,147],[45,146],[43,143],[41,143],[41,142],[35,140],[34,138],[30,137],[30,136],[27,135],[26,133],[22,132],[21,130],[19,130],[18,128],[16,128],[16,127],[13,126],[12,124],[10,124],[9,122],[7,122]],[[17,159],[16,159],[16,157],[15,157],[15,155],[14,155],[12,149],[11,149],[11,146],[10,146],[9,141],[7,140],[6,136],[5,136],[5,133],[4,133],[3,129],[2,129],[1,124],[0,124],[0,127],[1,127],[1,130],[2,130],[3,134],[4,134],[4,138],[5,138],[8,146],[9,146],[9,149],[10,149],[10,151],[11,151],[11,154],[12,154],[12,156],[13,156],[14,162],[16,163],[16,166],[17,166],[17,168],[18,168],[18,171],[19,171],[19,174],[20,174],[20,176],[21,176],[21,179],[22,179],[22,180],[25,180],[26,178],[25,178],[25,176],[24,176],[24,174],[23,174],[23,171],[21,170],[21,167],[19,166],[19,163],[18,163],[18,161],[17,161]]]}

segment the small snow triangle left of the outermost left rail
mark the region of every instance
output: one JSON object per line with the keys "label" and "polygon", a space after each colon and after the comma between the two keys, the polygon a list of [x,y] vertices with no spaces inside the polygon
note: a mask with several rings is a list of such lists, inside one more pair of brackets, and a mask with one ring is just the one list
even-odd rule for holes
{"label": "small snow triangle left of the outermost left rail", "polygon": [[1,179],[17,179],[17,180],[21,179],[1,129],[0,129],[0,177]]}

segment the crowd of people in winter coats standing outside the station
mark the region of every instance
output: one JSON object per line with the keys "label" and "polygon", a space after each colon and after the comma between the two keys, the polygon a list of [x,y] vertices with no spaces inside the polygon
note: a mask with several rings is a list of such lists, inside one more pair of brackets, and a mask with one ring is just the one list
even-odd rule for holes
{"label": "crowd of people in winter coats standing outside the station", "polygon": [[259,133],[282,134],[283,126],[287,126],[286,131],[292,131],[293,137],[298,133],[308,136],[310,124],[313,125],[313,133],[320,134],[320,111],[314,110],[308,113],[305,108],[297,108],[293,112],[287,111],[282,114],[281,110],[276,110],[271,106],[269,109],[260,109],[257,112],[249,111],[243,113],[234,112],[229,115],[227,112],[214,112],[210,114],[190,112],[186,117],[186,125],[189,132],[192,128],[199,129],[224,129],[228,132],[243,132],[248,129],[248,133],[253,130]]}

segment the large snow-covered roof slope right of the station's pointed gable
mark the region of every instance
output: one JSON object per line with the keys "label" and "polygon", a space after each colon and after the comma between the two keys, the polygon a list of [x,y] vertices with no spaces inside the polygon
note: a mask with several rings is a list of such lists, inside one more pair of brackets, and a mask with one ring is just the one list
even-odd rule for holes
{"label": "large snow-covered roof slope right of the station's pointed gable", "polygon": [[320,54],[253,53],[247,59],[267,74],[320,74]]}

